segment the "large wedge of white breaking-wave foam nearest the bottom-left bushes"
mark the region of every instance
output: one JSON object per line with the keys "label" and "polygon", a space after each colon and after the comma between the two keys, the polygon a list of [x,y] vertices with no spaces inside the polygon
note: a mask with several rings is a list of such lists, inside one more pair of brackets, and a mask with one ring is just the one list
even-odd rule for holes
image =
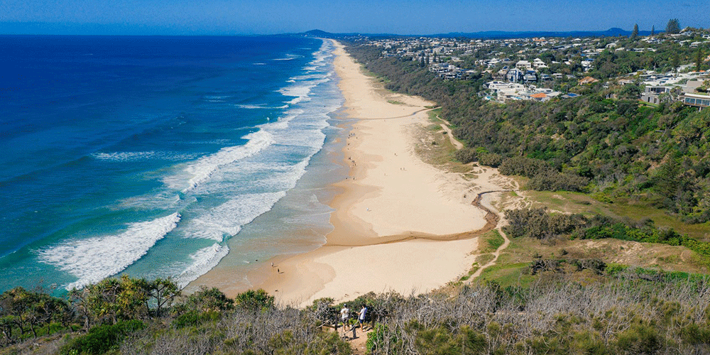
{"label": "large wedge of white breaking-wave foam nearest the bottom-left bushes", "polygon": [[180,214],[176,212],[148,222],[131,223],[119,234],[64,241],[37,254],[43,263],[79,278],[67,285],[67,290],[82,288],[124,271],[175,229],[178,222]]}

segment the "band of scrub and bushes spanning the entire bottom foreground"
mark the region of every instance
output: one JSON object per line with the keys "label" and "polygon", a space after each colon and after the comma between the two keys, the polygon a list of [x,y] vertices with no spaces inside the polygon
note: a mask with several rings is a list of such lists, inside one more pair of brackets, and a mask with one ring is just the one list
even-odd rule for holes
{"label": "band of scrub and bushes spanning the entire bottom foreground", "polygon": [[[710,283],[704,275],[563,257],[537,258],[525,270],[526,285],[454,283],[417,296],[368,293],[348,304],[368,307],[368,354],[710,351]],[[145,280],[124,277],[102,283],[122,291],[119,297],[94,299],[97,307],[21,289],[4,293],[3,319],[17,315],[23,321],[4,326],[0,352],[351,354],[346,339],[351,329],[358,330],[354,323],[339,323],[343,304],[332,299],[297,310],[275,306],[273,297],[261,290],[232,300],[204,288],[169,302],[158,316],[155,300],[146,303],[141,293],[129,291],[133,285],[150,284]],[[48,300],[62,307],[43,312]],[[8,315],[10,306],[15,307],[13,315]],[[39,314],[50,316],[36,321]],[[91,322],[82,330],[86,317]],[[29,334],[30,324],[36,334]]]}

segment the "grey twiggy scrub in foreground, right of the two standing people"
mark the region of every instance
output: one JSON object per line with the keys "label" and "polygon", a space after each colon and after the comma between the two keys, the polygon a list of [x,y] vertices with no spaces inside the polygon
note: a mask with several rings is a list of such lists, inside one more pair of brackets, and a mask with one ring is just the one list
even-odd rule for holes
{"label": "grey twiggy scrub in foreground, right of the two standing people", "polygon": [[371,354],[709,354],[710,283],[633,272],[582,286],[463,287],[409,297],[368,337]]}

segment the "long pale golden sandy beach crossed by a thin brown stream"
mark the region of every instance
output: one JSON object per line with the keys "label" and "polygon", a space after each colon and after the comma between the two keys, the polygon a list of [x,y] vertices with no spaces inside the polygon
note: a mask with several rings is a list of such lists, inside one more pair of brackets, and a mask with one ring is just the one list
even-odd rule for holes
{"label": "long pale golden sandy beach crossed by a thin brown stream", "polygon": [[[426,293],[457,280],[474,263],[477,236],[495,224],[472,202],[480,192],[506,188],[494,169],[472,167],[474,175],[464,178],[424,163],[415,146],[427,142],[417,132],[432,124],[427,111],[434,103],[386,91],[335,45],[344,114],[355,120],[342,137],[349,175],[334,186],[341,192],[330,203],[334,230],[326,244],[249,271],[246,283],[281,305],[304,307],[321,297],[339,302],[370,291]],[[482,204],[497,212],[491,198]],[[243,290],[229,286],[230,278],[218,266],[197,282],[234,296]]]}

